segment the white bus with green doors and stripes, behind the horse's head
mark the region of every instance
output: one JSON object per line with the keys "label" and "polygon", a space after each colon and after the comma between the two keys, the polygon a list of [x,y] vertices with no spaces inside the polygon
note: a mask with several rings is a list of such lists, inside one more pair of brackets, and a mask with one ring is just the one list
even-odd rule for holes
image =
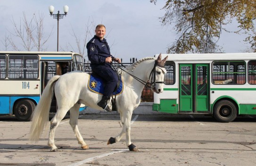
{"label": "white bus with green doors and stripes, behind the horse's head", "polygon": [[256,53],[163,54],[164,91],[153,111],[212,114],[230,122],[256,114]]}

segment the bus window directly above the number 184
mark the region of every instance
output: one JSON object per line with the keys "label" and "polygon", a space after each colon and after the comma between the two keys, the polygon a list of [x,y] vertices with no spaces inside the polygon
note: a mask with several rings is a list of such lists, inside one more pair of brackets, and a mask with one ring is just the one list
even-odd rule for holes
{"label": "bus window directly above the number 184", "polygon": [[8,78],[37,79],[38,78],[38,56],[9,55]]}

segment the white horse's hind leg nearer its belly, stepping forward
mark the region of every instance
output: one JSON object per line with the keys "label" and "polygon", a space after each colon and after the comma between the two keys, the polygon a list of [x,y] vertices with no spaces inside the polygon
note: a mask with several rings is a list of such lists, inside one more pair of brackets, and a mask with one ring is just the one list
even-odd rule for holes
{"label": "white horse's hind leg nearer its belly, stepping forward", "polygon": [[72,108],[70,108],[70,120],[69,124],[72,127],[74,131],[74,135],[76,136],[76,139],[79,144],[81,144],[81,148],[83,149],[89,149],[89,147],[86,145],[86,143],[83,141],[83,137],[81,136],[79,130],[78,130],[78,116],[79,116],[79,108],[80,104],[75,104]]}

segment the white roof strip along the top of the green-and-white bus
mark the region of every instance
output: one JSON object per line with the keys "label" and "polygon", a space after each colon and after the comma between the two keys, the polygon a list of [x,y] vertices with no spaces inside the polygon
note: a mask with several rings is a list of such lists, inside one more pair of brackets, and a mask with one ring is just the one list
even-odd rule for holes
{"label": "white roof strip along the top of the green-and-white bus", "polygon": [[[157,57],[159,54],[156,54]],[[168,61],[256,60],[256,53],[187,53],[168,55]]]}

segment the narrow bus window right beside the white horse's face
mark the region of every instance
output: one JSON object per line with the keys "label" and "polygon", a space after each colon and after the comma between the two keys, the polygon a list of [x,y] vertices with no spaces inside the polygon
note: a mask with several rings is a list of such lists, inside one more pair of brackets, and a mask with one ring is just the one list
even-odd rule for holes
{"label": "narrow bus window right beside the white horse's face", "polygon": [[166,61],[165,63],[165,78],[164,83],[165,85],[173,85],[175,83],[175,63],[172,61]]}

